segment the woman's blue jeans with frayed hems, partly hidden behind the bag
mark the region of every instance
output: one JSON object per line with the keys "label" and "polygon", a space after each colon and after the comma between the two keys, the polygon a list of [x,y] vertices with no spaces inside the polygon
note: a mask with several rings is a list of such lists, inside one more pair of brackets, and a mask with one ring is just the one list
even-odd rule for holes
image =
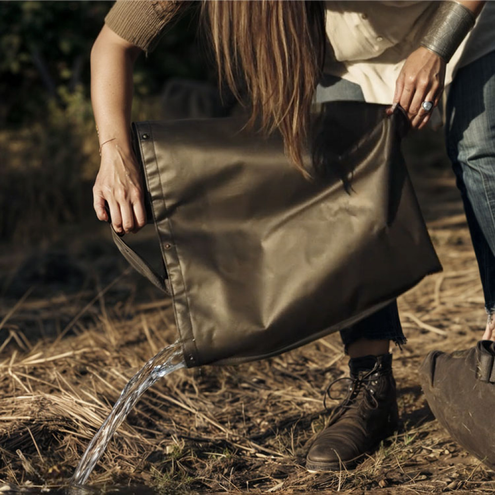
{"label": "woman's blue jeans with frayed hems, partly hidden behind the bag", "polygon": [[[361,88],[325,75],[316,101],[364,100]],[[495,311],[495,52],[461,68],[446,108],[446,148],[461,192],[480,269],[489,318]],[[342,330],[344,345],[361,339],[390,339],[400,346],[396,302]]]}

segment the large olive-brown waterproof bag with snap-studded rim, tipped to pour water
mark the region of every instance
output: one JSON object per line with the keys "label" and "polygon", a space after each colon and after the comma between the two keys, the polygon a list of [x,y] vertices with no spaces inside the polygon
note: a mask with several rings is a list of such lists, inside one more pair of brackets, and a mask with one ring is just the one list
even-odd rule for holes
{"label": "large olive-brown waterproof bag with snap-studded rim, tipped to pour water", "polygon": [[133,124],[163,272],[113,237],[172,297],[188,366],[301,346],[441,270],[400,152],[408,122],[385,108],[323,103],[312,181],[240,117]]}

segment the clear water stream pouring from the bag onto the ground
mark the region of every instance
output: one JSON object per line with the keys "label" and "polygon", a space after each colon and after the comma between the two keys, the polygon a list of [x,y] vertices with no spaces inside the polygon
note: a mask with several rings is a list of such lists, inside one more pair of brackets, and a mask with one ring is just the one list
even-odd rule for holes
{"label": "clear water stream pouring from the bag onto the ground", "polygon": [[160,350],[129,380],[98,433],[86,448],[70,480],[71,485],[86,483],[115,430],[146,390],[165,375],[185,367],[182,347],[176,342]]}

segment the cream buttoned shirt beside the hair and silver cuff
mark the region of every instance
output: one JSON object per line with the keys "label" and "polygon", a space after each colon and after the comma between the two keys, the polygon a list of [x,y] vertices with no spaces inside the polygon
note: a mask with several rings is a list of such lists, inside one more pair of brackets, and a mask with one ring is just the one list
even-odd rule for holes
{"label": "cream buttoned shirt beside the hair and silver cuff", "polygon": [[[364,98],[392,102],[405,58],[419,46],[438,1],[326,1],[325,72],[361,86]],[[456,70],[495,50],[495,1],[488,1],[476,25],[446,68],[446,85]]]}

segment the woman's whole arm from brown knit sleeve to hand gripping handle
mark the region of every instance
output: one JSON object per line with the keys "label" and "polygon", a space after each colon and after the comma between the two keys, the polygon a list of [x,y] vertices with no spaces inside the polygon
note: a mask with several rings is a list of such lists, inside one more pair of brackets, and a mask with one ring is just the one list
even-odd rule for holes
{"label": "woman's whole arm from brown knit sleeve to hand gripping handle", "polygon": [[111,218],[117,233],[137,232],[146,224],[143,178],[130,134],[134,62],[154,47],[183,3],[117,1],[91,50],[91,101],[101,153],[94,208],[99,220]]}

